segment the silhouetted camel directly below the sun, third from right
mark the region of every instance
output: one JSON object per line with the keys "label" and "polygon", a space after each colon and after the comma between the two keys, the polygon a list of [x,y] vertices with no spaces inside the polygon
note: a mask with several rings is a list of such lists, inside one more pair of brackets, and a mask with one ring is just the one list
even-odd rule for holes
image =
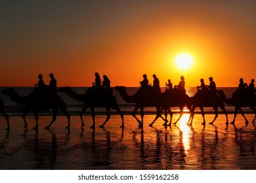
{"label": "silhouetted camel directly below the sun, third from right", "polygon": [[150,124],[150,126],[152,126],[154,122],[156,122],[156,120],[159,117],[161,117],[160,114],[163,112],[163,110],[165,111],[165,124],[163,125],[167,125],[167,111],[171,116],[171,119],[168,125],[171,125],[171,120],[173,118],[173,112],[171,111],[171,107],[179,107],[180,109],[179,118],[176,120],[175,123],[173,123],[173,124],[177,124],[177,122],[179,122],[179,120],[183,115],[183,109],[185,106],[188,108],[188,110],[191,111],[191,105],[189,104],[189,100],[190,100],[190,97],[186,95],[186,93],[181,93],[178,90],[172,90],[171,92],[170,91],[163,92],[161,97],[161,112],[157,114],[156,118]]}

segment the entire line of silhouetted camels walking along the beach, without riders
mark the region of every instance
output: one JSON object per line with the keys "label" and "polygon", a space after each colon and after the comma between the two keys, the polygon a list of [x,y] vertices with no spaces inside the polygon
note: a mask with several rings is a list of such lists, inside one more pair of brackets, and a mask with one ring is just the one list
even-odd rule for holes
{"label": "entire line of silhouetted camels walking along the beach, without riders", "polygon": [[[212,122],[209,124],[213,124],[215,120],[218,117],[218,108],[220,107],[224,115],[226,116],[226,124],[228,124],[228,114],[226,112],[226,109],[224,107],[224,103],[226,105],[232,105],[234,106],[234,120],[231,122],[231,124],[234,124],[236,116],[238,114],[238,110],[242,114],[242,116],[245,119],[245,124],[248,124],[247,118],[245,118],[244,112],[242,111],[243,107],[249,107],[255,112],[255,117],[253,119],[253,124],[255,123],[256,119],[256,99],[255,95],[240,95],[239,93],[234,95],[232,98],[227,99],[226,95],[224,94],[223,90],[217,91],[217,93],[210,93],[210,92],[202,92],[198,91],[193,97],[189,97],[186,92],[181,92],[177,88],[169,91],[165,90],[165,92],[161,93],[160,91],[154,90],[154,88],[150,88],[148,90],[142,90],[140,88],[137,93],[134,95],[128,95],[125,86],[116,86],[114,87],[114,90],[120,93],[121,97],[126,103],[134,103],[135,108],[132,112],[132,116],[137,120],[139,127],[143,127],[143,118],[144,118],[144,108],[145,107],[156,107],[156,118],[149,124],[149,126],[152,126],[158,118],[161,118],[164,121],[165,126],[171,125],[172,118],[173,118],[173,112],[171,111],[171,107],[179,107],[179,118],[174,122],[173,124],[177,124],[179,120],[181,119],[182,114],[184,113],[184,107],[188,108],[190,112],[190,119],[188,120],[188,125],[192,125],[193,118],[194,118],[194,111],[196,107],[199,107],[202,113],[203,122],[202,125],[205,125],[205,112],[203,111],[203,108],[205,107],[213,107],[215,111],[215,118]],[[36,91],[36,90],[35,90]],[[22,118],[24,120],[24,128],[28,127],[28,124],[26,122],[26,115],[28,112],[33,112],[35,116],[35,127],[33,129],[38,129],[38,112],[41,110],[52,110],[53,111],[53,119],[45,127],[45,129],[49,129],[51,125],[56,120],[56,115],[58,110],[60,109],[61,112],[63,112],[68,120],[68,125],[66,126],[66,129],[70,129],[70,114],[68,113],[66,104],[64,103],[63,99],[59,95],[39,95],[37,92],[32,92],[30,95],[26,97],[20,97],[18,93],[14,91],[13,88],[8,88],[2,90],[1,93],[8,95],[12,101],[26,106],[26,109],[24,110],[24,114],[22,114]],[[102,125],[99,127],[104,127],[104,125],[110,120],[110,110],[113,108],[117,111],[117,113],[121,116],[121,125],[120,127],[124,127],[123,122],[123,113],[121,112],[119,105],[117,104],[116,97],[113,95],[113,89],[105,90],[101,88],[100,90],[96,88],[95,86],[89,88],[86,93],[78,94],[75,93],[72,88],[70,87],[62,87],[59,88],[59,92],[66,93],[69,97],[76,101],[81,101],[83,103],[83,109],[81,112],[79,112],[79,117],[81,118],[81,127],[85,125],[85,122],[83,121],[83,113],[87,108],[91,109],[91,116],[93,118],[93,125],[91,125],[91,128],[95,128],[95,108],[96,107],[104,107],[106,108],[106,120],[103,122]],[[140,109],[140,120],[137,118],[136,113],[137,110]],[[7,121],[7,130],[10,129],[9,125],[9,116],[6,113],[5,105],[3,101],[0,100],[0,112],[3,114]],[[165,118],[161,116],[161,114],[165,114]],[[167,112],[169,112],[170,120],[168,124],[167,120]]]}

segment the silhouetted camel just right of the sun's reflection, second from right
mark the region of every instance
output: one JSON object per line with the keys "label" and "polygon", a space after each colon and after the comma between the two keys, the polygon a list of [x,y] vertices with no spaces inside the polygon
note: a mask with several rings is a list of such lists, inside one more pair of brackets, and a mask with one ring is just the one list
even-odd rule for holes
{"label": "silhouetted camel just right of the sun's reflection, second from right", "polygon": [[193,118],[194,118],[194,110],[196,109],[196,107],[200,107],[200,110],[202,112],[202,116],[203,116],[203,123],[202,124],[203,125],[205,125],[203,107],[213,107],[213,109],[214,109],[215,118],[209,124],[213,124],[213,122],[215,122],[215,120],[217,119],[217,117],[218,117],[218,108],[219,107],[223,110],[224,114],[226,115],[226,124],[228,124],[228,112],[226,112],[223,101],[216,94],[196,93],[196,95],[194,95],[193,97],[190,97],[190,104],[192,105],[190,125],[192,125],[192,121],[193,121]]}

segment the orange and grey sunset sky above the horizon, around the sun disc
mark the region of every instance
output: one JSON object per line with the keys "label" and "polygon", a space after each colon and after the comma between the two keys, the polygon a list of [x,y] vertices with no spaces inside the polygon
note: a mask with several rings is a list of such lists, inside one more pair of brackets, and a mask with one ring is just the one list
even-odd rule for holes
{"label": "orange and grey sunset sky above the horizon, around the sun disc", "polygon": [[[256,73],[256,1],[0,1],[0,86],[238,86]],[[175,58],[192,57],[188,69]]]}

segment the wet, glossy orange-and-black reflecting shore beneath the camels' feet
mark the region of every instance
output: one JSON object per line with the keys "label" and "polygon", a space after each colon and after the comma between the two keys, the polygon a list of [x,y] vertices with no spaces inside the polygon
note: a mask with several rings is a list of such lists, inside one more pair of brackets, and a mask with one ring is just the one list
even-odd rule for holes
{"label": "wet, glossy orange-and-black reflecting shore beneath the camels' feet", "polygon": [[[246,114],[249,121],[253,114]],[[238,114],[236,125],[225,125],[220,114],[214,125],[213,114],[196,114],[192,127],[184,114],[177,125],[163,127],[154,115],[144,116],[144,127],[125,115],[112,116],[105,128],[98,125],[106,116],[96,116],[96,128],[90,129],[91,116],[84,116],[81,129],[79,116],[72,116],[70,131],[65,116],[58,116],[50,130],[44,129],[51,116],[39,116],[39,130],[32,129],[33,116],[28,116],[28,129],[23,129],[20,116],[11,116],[11,131],[0,118],[0,169],[256,169],[256,127]],[[178,114],[174,115],[174,119]],[[228,118],[232,119],[232,114]]]}

